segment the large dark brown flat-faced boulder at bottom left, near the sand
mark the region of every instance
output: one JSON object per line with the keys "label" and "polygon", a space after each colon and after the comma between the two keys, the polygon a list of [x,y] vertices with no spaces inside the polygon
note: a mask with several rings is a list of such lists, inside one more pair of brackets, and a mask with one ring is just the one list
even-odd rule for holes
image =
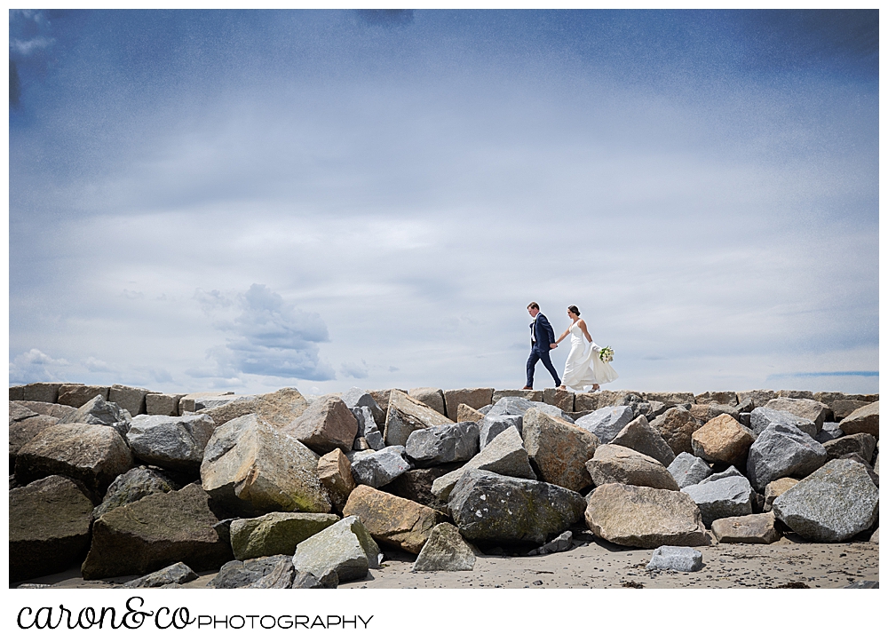
{"label": "large dark brown flat-faced boulder at bottom left, near the sand", "polygon": [[92,526],[83,579],[145,575],[176,562],[195,571],[218,568],[231,559],[231,549],[213,529],[217,521],[210,496],[197,484],[115,508]]}

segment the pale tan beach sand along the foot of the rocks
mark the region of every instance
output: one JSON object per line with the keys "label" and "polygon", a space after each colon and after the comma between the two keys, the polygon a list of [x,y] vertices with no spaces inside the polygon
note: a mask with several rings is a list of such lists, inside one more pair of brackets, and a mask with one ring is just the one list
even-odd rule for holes
{"label": "pale tan beach sand along the foot of the rocks", "polygon": [[[411,573],[414,556],[385,551],[382,567],[373,569],[369,579],[344,583],[339,589],[841,589],[879,579],[877,543],[806,543],[793,535],[773,544],[717,544],[698,547],[703,554],[700,571],[652,573],[645,569],[652,551],[616,546],[591,536],[583,539],[591,541],[575,541],[570,551],[540,557],[488,554],[477,559],[474,570],[458,572]],[[204,588],[216,574],[200,575],[183,588]],[[103,589],[130,579],[87,582],[78,568],[72,568],[26,584]]]}

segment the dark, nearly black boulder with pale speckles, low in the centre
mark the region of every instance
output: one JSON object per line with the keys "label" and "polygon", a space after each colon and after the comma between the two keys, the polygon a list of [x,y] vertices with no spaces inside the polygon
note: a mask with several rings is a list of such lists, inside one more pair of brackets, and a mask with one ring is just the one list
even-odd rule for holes
{"label": "dark, nearly black boulder with pale speckles, low in the centre", "polygon": [[470,540],[546,543],[583,515],[583,495],[544,481],[466,471],[448,501],[459,532]]}

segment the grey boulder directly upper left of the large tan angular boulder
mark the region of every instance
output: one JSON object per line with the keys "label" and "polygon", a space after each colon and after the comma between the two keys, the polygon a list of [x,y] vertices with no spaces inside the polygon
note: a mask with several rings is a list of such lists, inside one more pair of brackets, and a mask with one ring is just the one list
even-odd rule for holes
{"label": "grey boulder directly upper left of the large tan angular boulder", "polygon": [[133,417],[126,440],[133,454],[146,464],[197,472],[215,429],[205,415],[140,415]]}

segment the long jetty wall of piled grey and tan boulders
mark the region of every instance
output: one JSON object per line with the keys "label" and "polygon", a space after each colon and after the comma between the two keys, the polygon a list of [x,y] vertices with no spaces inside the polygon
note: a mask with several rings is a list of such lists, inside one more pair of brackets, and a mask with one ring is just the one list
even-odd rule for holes
{"label": "long jetty wall of piled grey and tan boulders", "polygon": [[11,582],[335,588],[386,550],[471,572],[583,536],[693,572],[711,543],[878,541],[877,395],[36,383],[9,404]]}

